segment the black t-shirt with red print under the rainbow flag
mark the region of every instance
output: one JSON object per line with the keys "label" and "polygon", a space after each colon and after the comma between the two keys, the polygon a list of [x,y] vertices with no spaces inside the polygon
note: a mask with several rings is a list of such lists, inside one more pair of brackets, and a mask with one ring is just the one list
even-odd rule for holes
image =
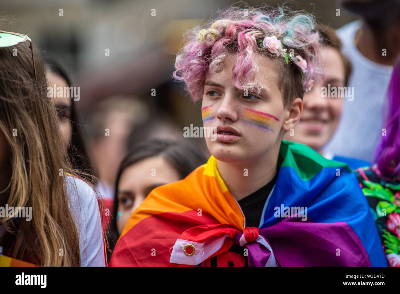
{"label": "black t-shirt with red print under the rainbow flag", "polygon": [[[246,196],[238,201],[242,208],[247,227],[260,227],[262,210],[265,202],[272,191],[278,178],[280,166],[282,165],[283,157],[279,154],[278,163],[276,164],[276,174],[274,178],[265,186],[258,189],[256,192]],[[214,256],[202,262],[202,266],[248,266],[246,247],[239,246],[234,243],[232,247],[218,256]]]}

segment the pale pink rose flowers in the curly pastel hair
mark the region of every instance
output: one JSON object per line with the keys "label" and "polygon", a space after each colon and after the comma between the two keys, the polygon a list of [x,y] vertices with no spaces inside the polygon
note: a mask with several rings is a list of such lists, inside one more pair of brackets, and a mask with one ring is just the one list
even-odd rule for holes
{"label": "pale pink rose flowers in the curly pastel hair", "polygon": [[[262,43],[260,42],[260,47],[267,49],[269,52],[276,56],[285,58],[287,64],[289,64],[290,61],[296,64],[304,81],[304,73],[307,72],[307,61],[303,59],[300,55],[292,56],[291,53],[288,54],[286,52],[287,49],[283,48],[282,42],[278,40],[276,36],[265,37],[264,40],[262,40]],[[304,90],[306,92],[310,91],[313,84],[314,80],[308,80],[306,84],[303,84]]]}

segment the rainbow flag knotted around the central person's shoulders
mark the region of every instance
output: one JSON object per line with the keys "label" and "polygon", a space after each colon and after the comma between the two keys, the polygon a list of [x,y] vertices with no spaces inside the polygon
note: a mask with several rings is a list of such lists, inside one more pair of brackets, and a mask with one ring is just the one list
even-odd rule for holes
{"label": "rainbow flag knotted around the central person's shoulders", "polygon": [[130,216],[110,266],[196,266],[234,243],[247,248],[249,266],[387,266],[350,168],[294,142],[282,141],[280,154],[259,228],[246,227],[211,156],[184,180],[147,196]]}

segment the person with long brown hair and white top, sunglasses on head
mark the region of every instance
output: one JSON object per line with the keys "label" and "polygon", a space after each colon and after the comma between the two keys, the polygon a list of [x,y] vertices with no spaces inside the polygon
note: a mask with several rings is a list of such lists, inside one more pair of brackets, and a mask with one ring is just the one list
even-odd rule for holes
{"label": "person with long brown hair and white top, sunglasses on head", "polygon": [[[26,37],[0,35],[0,208],[31,212],[3,210],[3,254],[40,266],[106,266],[96,193],[68,163],[44,64]],[[16,38],[22,43],[10,45]]]}

